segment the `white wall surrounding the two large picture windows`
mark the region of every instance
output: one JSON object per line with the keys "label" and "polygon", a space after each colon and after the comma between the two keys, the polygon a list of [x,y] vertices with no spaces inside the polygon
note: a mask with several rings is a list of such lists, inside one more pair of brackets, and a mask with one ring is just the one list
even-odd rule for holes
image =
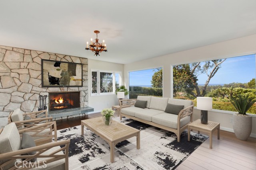
{"label": "white wall surrounding the two large picture windows", "polygon": [[[212,59],[222,59],[256,53],[256,34],[238,39],[232,39],[221,43],[207,45],[195,49],[181,51],[169,55],[146,59],[124,65],[124,83],[128,86],[128,72],[147,68],[163,67],[163,97],[170,97],[172,89],[172,77],[170,71],[172,65],[194,63]],[[194,119],[198,119],[200,111],[194,111]],[[209,121],[220,122],[221,129],[233,131],[230,118],[232,113],[209,112]],[[256,137],[256,117],[253,117],[252,136]]]}

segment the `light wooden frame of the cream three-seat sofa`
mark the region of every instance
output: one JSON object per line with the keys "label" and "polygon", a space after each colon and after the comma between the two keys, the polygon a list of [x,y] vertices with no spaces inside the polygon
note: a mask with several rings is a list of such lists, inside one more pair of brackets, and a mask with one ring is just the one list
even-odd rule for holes
{"label": "light wooden frame of the cream three-seat sofa", "polygon": [[154,123],[152,121],[147,121],[147,120],[144,120],[144,119],[140,119],[138,117],[135,117],[135,116],[130,116],[130,115],[126,115],[124,113],[122,113],[122,106],[134,106],[135,102],[137,101],[137,99],[123,99],[123,100],[119,100],[119,106],[120,106],[120,120],[122,120],[122,116],[124,117],[128,117],[130,119],[134,119],[136,121],[140,121],[142,123],[146,123],[148,125],[152,125],[152,126],[155,126],[155,127],[159,127],[161,129],[164,129],[166,131],[171,131],[173,133],[176,134],[177,136],[177,141],[180,142],[180,135],[181,133],[188,128],[188,124],[191,123],[193,121],[193,108],[194,108],[194,103],[191,105],[191,106],[188,106],[184,109],[182,109],[180,111],[180,113],[178,114],[178,120],[177,120],[177,127],[180,127],[180,119],[186,117],[186,116],[190,116],[190,122],[186,125],[184,125],[183,127],[180,127],[180,128],[177,128],[177,129],[174,129],[174,128],[171,128],[171,127],[167,127],[167,126],[164,126],[164,125],[160,125],[158,123]]}

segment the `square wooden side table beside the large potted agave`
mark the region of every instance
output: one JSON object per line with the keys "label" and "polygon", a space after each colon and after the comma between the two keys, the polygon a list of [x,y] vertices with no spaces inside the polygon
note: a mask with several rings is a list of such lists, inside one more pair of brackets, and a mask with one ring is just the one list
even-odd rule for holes
{"label": "square wooden side table beside the large potted agave", "polygon": [[210,137],[210,149],[212,149],[212,132],[216,129],[218,130],[218,139],[220,139],[220,123],[208,121],[208,124],[202,124],[200,119],[193,121],[192,123],[188,124],[188,141],[190,141],[190,130],[194,129],[197,130],[198,133],[200,131],[209,134]]}

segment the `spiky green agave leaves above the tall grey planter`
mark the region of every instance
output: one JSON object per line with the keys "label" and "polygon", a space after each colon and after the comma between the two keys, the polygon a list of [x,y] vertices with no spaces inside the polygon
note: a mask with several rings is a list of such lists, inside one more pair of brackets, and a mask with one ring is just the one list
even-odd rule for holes
{"label": "spiky green agave leaves above the tall grey planter", "polygon": [[250,99],[249,96],[237,95],[237,98],[230,97],[230,102],[236,108],[239,114],[245,115],[248,109],[256,102],[256,99]]}

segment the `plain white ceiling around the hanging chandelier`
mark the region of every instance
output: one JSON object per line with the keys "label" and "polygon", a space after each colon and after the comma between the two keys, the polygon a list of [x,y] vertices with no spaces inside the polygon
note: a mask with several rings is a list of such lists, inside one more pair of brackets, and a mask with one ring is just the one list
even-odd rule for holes
{"label": "plain white ceiling around the hanging chandelier", "polygon": [[[94,56],[86,41],[104,39]],[[256,0],[0,0],[0,45],[132,63],[256,33]]]}

